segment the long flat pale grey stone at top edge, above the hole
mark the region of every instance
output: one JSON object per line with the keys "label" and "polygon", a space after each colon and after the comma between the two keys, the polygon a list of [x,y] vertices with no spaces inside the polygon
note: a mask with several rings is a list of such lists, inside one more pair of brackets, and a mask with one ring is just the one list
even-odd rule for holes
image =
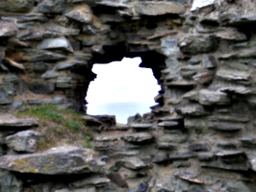
{"label": "long flat pale grey stone at top edge, above the hole", "polygon": [[163,15],[167,13],[183,13],[185,7],[176,2],[135,2],[135,12],[143,15]]}

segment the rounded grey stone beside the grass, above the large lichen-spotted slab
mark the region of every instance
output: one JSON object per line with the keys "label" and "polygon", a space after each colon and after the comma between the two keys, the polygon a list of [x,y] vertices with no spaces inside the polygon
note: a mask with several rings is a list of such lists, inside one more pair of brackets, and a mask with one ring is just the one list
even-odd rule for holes
{"label": "rounded grey stone beside the grass, above the large lichen-spotted slab", "polygon": [[6,143],[16,152],[34,153],[37,151],[38,142],[43,139],[45,137],[40,132],[24,131],[6,137]]}

